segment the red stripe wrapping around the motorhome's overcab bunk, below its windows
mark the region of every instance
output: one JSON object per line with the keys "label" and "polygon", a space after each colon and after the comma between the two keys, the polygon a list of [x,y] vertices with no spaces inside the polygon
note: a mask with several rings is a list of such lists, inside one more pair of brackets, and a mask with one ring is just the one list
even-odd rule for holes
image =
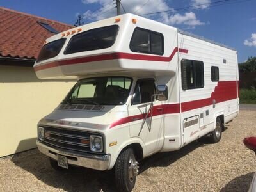
{"label": "red stripe wrapping around the motorhome's overcab bunk, below its windows", "polygon": [[[38,66],[34,67],[34,69],[35,69],[35,71],[38,71],[38,70],[44,70],[47,68],[58,67],[58,66],[62,66],[62,65],[74,65],[74,64],[79,64],[79,63],[116,60],[116,59],[170,62],[177,51],[178,51],[178,48],[175,47],[173,49],[172,54],[169,57],[152,56],[152,55],[145,55],[145,54],[132,54],[132,53],[125,53],[125,52],[114,52],[111,54],[101,54],[101,55],[97,55],[97,56],[88,56],[88,57],[83,57],[83,58],[54,61],[52,63],[38,65]],[[187,49],[179,49],[179,52],[188,53],[188,50]]]}

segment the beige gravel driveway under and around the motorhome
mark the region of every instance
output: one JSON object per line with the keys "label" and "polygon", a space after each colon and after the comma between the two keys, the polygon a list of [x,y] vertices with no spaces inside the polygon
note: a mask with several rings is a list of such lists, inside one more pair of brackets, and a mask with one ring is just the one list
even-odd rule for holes
{"label": "beige gravel driveway under and around the motorhome", "polygon": [[[256,156],[242,140],[253,135],[256,112],[240,111],[226,125],[220,143],[195,141],[143,160],[134,191],[246,191]],[[38,150],[0,159],[0,186],[0,191],[115,191],[113,172],[56,172]]]}

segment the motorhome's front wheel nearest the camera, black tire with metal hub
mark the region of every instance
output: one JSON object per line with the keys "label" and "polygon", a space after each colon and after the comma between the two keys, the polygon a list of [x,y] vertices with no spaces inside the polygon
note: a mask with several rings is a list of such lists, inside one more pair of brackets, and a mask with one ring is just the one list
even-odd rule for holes
{"label": "motorhome's front wheel nearest the camera, black tire with metal hub", "polygon": [[132,191],[136,182],[138,168],[138,162],[132,148],[127,148],[118,156],[115,164],[115,181],[118,191]]}

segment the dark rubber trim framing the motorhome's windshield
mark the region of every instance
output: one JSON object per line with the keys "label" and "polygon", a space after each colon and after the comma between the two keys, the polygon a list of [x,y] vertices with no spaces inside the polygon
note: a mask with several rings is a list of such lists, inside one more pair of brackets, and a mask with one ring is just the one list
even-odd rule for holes
{"label": "dark rubber trim framing the motorhome's windshield", "polygon": [[[132,78],[132,77],[128,77],[128,76],[98,76],[98,77],[88,77],[88,78],[79,79],[79,80],[77,81],[77,83],[72,87],[72,89],[70,90],[70,92],[68,92],[67,96],[65,97],[65,99],[63,99],[63,101],[62,101],[61,103],[67,102],[67,103],[70,104],[70,105],[72,105],[72,104],[77,104],[77,103],[72,103],[72,102],[70,102],[69,97],[70,97],[70,95],[72,95],[72,93],[74,92],[74,90],[76,90],[77,86],[79,86],[79,84],[80,84],[81,81],[86,80],[86,79],[93,79],[93,78],[109,78],[109,77],[110,77],[110,78],[111,78],[111,77],[112,77],[112,78],[115,77],[115,78],[127,78],[127,79],[130,79],[130,80],[131,80],[131,84],[130,84],[130,86],[129,86],[129,94],[128,94],[126,100],[124,101],[124,103],[122,103],[122,104],[99,104],[99,105],[102,105],[102,106],[123,106],[123,105],[127,104],[128,97],[129,97],[129,95],[130,95],[130,93],[131,93],[131,88],[132,88],[132,83],[133,83],[133,78]],[[90,105],[92,105],[92,103],[90,103]]]}

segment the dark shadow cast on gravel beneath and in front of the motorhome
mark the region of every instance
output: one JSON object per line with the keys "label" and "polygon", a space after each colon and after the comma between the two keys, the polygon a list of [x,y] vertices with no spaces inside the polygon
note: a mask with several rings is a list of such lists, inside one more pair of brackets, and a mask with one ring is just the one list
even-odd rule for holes
{"label": "dark shadow cast on gravel beneath and in front of the motorhome", "polygon": [[[195,141],[177,152],[164,152],[150,156],[140,163],[140,173],[150,167],[168,166],[202,146],[204,143]],[[100,191],[101,189],[116,191],[113,171],[100,172],[70,166],[68,170],[57,172],[51,168],[48,157],[37,149],[14,155],[12,162],[54,188],[65,191]]]}

